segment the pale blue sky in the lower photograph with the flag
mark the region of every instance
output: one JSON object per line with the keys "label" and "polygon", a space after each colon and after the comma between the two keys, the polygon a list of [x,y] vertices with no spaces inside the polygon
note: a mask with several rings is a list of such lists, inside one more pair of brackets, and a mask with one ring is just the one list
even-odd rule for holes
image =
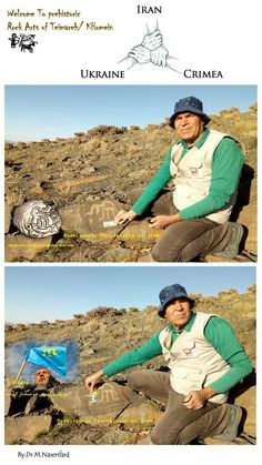
{"label": "pale blue sky in the lower photograph with the flag", "polygon": [[254,266],[7,266],[6,321],[71,319],[99,305],[159,305],[159,292],[180,283],[189,293],[216,295],[255,283]]}

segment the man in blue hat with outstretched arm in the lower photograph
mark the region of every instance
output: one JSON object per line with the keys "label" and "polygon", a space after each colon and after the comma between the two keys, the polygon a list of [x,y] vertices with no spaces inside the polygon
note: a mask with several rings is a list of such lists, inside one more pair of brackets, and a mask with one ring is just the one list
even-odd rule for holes
{"label": "man in blue hat with outstretched arm in the lower photograph", "polygon": [[180,284],[160,292],[159,315],[169,323],[141,347],[117,358],[85,380],[93,390],[112,376],[163,354],[170,373],[152,370],[129,375],[129,385],[167,404],[147,444],[190,444],[215,437],[233,441],[242,410],[226,403],[229,391],[252,372],[230,323],[214,314],[193,312],[194,301]]}

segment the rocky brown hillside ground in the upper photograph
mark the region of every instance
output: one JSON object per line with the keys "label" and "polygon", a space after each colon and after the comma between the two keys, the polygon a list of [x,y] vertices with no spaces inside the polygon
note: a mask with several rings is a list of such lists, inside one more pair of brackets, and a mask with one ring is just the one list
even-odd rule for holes
{"label": "rocky brown hillside ground in the upper photograph", "polygon": [[[235,108],[221,111],[211,117],[210,128],[244,145],[246,163],[233,220],[245,226],[245,249],[256,254],[256,104],[243,113]],[[70,139],[7,143],[6,260],[150,261],[155,237],[150,236],[147,221],[134,222],[117,235],[120,229],[90,231],[88,219],[97,210],[101,219],[110,220],[119,208],[128,208],[129,192],[147,185],[174,142],[174,131],[164,122],[144,129],[97,127]],[[12,224],[13,211],[29,200],[43,200],[59,211],[61,233],[43,240],[19,233]],[[114,203],[107,204],[109,200]],[[209,256],[208,261],[223,260]]]}

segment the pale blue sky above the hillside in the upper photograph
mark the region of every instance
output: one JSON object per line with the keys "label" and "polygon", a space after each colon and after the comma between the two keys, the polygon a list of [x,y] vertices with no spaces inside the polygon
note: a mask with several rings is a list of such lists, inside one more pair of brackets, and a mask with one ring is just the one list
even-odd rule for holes
{"label": "pale blue sky above the hillside in the upper photograph", "polygon": [[73,137],[99,124],[143,128],[170,117],[177,100],[194,95],[209,114],[256,101],[255,85],[7,85],[6,140]]}

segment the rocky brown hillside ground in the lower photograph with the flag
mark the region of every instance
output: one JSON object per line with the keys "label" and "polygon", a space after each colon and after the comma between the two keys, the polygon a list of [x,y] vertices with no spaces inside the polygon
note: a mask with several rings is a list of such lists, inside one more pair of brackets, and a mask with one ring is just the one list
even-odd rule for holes
{"label": "rocky brown hillside ground in the lower photograph with the flag", "polygon": [[[218,296],[191,295],[196,310],[215,313],[230,321],[255,368],[255,285],[243,294],[235,290],[220,292]],[[62,394],[51,396],[63,418],[56,425],[50,415],[27,415],[7,418],[7,442],[16,444],[142,444],[148,432],[161,417],[164,406],[138,394],[127,386],[127,370],[105,378],[99,387],[99,402],[92,403],[83,387],[88,374],[101,370],[115,357],[143,344],[151,335],[164,327],[157,314],[158,307],[143,311],[131,309],[98,307],[85,314],[75,314],[73,320],[57,320],[40,324],[6,326],[6,345],[26,342],[41,334],[41,343],[74,340],[80,352],[80,374],[73,384],[62,387]],[[141,368],[165,370],[159,356]],[[8,373],[8,370],[7,370]],[[6,412],[9,407],[11,383],[7,376]],[[244,432],[255,433],[255,381],[254,375],[231,395],[232,402],[241,405],[246,414]],[[205,444],[224,444],[208,438]]]}

